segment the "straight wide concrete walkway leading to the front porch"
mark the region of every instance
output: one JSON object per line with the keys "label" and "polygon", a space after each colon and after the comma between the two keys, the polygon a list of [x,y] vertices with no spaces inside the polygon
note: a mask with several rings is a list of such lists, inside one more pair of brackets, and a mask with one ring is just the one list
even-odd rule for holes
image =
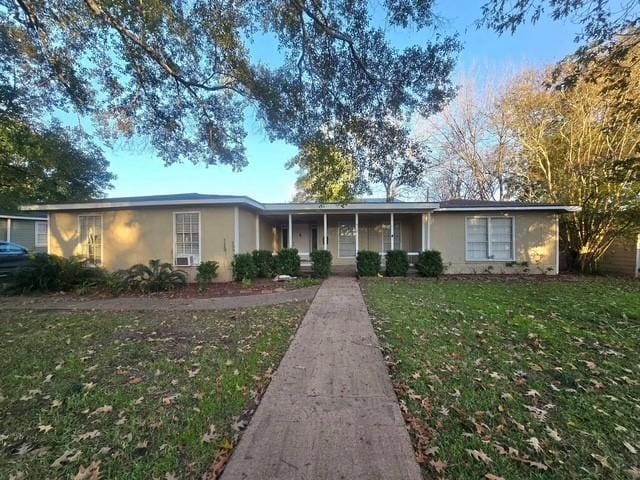
{"label": "straight wide concrete walkway leading to the front porch", "polygon": [[222,480],[419,480],[358,283],[325,281]]}

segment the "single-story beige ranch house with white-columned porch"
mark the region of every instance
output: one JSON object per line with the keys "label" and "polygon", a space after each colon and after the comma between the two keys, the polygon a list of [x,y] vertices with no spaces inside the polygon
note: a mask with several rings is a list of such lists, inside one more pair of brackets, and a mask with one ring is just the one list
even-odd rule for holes
{"label": "single-story beige ranch house with white-columned porch", "polygon": [[28,205],[49,216],[49,252],[80,255],[109,270],[159,258],[187,271],[219,263],[231,279],[236,253],[315,249],[355,268],[356,252],[415,259],[439,250],[447,273],[558,273],[558,216],[577,207],[521,202],[261,203],[247,196],[197,193]]}

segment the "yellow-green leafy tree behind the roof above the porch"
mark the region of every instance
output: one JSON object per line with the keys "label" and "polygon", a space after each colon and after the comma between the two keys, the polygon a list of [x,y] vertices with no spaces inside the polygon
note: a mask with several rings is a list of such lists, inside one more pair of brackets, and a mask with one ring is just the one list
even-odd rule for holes
{"label": "yellow-green leafy tree behind the roof above the porch", "polygon": [[344,203],[366,192],[355,159],[322,134],[287,163],[297,168],[295,202]]}

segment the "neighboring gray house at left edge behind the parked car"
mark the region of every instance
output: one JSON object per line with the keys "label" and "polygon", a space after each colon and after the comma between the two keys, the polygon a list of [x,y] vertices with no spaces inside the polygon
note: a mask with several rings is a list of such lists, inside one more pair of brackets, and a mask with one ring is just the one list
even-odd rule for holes
{"label": "neighboring gray house at left edge behind the parked car", "polygon": [[0,211],[0,240],[17,243],[32,252],[46,252],[49,243],[47,215]]}

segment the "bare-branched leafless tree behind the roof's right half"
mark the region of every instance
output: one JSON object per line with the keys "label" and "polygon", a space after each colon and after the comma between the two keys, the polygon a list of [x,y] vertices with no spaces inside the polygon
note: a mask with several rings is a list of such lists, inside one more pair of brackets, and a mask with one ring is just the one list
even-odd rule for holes
{"label": "bare-branched leafless tree behind the roof's right half", "polygon": [[426,188],[438,199],[504,200],[513,160],[513,139],[499,108],[502,88],[478,86],[462,77],[458,94],[444,109],[419,122],[434,166]]}

